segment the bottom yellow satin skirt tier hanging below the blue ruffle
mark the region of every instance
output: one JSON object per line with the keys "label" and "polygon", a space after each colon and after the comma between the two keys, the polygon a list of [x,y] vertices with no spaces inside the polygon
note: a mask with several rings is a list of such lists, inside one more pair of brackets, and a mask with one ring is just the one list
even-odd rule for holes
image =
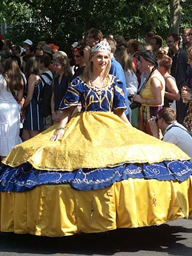
{"label": "bottom yellow satin skirt tier hanging below the blue ruffle", "polygon": [[159,225],[192,217],[192,178],[129,179],[106,189],[76,191],[42,185],[25,193],[1,193],[1,231],[43,236],[98,233]]}

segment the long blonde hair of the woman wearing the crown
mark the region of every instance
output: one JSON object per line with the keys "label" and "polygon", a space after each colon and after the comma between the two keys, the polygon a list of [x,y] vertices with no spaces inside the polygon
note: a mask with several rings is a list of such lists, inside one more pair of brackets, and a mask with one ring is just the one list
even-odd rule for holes
{"label": "long blonde hair of the woman wearing the crown", "polygon": [[[93,57],[94,54],[97,54],[96,53],[91,53],[90,56],[89,56],[89,61],[87,63],[87,65],[85,66],[85,69],[83,71],[83,81],[85,81],[85,83],[90,83],[91,81],[91,76],[93,74],[93,63],[91,61],[91,58]],[[109,55],[109,62],[107,63],[107,67],[105,68],[105,71],[103,73],[103,77],[109,77],[109,70],[111,68],[111,57]]]}

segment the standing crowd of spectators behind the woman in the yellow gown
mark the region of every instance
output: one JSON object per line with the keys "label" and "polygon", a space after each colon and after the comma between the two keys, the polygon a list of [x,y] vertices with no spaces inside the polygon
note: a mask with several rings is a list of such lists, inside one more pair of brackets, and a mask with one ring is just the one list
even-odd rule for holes
{"label": "standing crowd of spectators behind the woman in the yellow gown", "polygon": [[[71,45],[71,52],[68,54],[65,51],[59,51],[58,45],[47,44],[45,41],[39,41],[35,45],[30,39],[26,39],[22,47],[14,45],[10,40],[0,41],[0,72],[2,75],[5,73],[5,63],[11,58],[20,68],[20,74],[17,76],[23,79],[22,99],[20,99],[21,93],[16,95],[18,91],[15,85],[12,85],[10,90],[12,94],[16,92],[17,103],[21,102],[20,126],[23,129],[17,134],[23,141],[37,135],[53,123],[59,122],[59,105],[69,83],[83,74],[91,47],[101,39],[103,39],[101,31],[90,29],[85,39],[79,39]],[[116,40],[113,35],[109,35],[107,42],[111,47],[109,73],[123,81],[127,107],[125,115],[131,124],[152,135],[148,120],[152,116],[157,117],[157,112],[162,107],[173,107],[177,113],[177,121],[191,131],[191,29],[183,30],[182,45],[181,37],[172,33],[167,35],[167,47],[163,47],[163,39],[153,32],[147,33],[143,42],[140,43],[136,39],[126,41],[121,35]],[[15,72],[14,69],[12,71]],[[5,79],[5,75],[3,77]],[[3,83],[5,81],[3,80]],[[53,88],[51,113],[48,117],[41,115],[41,98],[45,83]],[[81,111],[81,107],[75,111]],[[1,113],[5,111],[2,110]],[[10,121],[6,123],[13,127]],[[1,137],[3,137],[3,140],[0,137],[3,143],[1,148],[4,148],[4,144],[9,145],[10,141],[10,130],[5,129],[4,124],[5,120],[2,119],[0,122]],[[17,143],[21,141],[18,136],[15,136]],[[1,158],[5,157],[14,146],[14,143],[10,142],[10,144],[6,153],[4,149],[4,152],[0,152]]]}

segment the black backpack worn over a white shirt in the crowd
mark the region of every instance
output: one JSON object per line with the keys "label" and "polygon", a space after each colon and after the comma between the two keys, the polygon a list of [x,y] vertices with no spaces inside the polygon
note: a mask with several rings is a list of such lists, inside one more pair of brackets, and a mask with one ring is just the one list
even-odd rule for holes
{"label": "black backpack worn over a white shirt in the crowd", "polygon": [[[50,81],[53,80],[51,75],[48,73],[43,73],[42,75],[46,75],[46,77],[49,78]],[[43,93],[41,97],[41,115],[43,117],[47,117],[48,115],[51,115],[51,97],[52,97],[52,86],[47,84],[45,80],[43,79],[42,75],[39,75],[41,77],[41,80],[43,81]]]}

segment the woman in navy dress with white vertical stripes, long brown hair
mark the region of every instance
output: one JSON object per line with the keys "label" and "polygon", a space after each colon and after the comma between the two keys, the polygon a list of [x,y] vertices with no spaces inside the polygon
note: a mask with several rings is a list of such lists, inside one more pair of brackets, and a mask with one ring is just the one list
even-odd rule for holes
{"label": "woman in navy dress with white vertical stripes, long brown hair", "polygon": [[22,107],[23,141],[34,137],[43,129],[43,117],[41,115],[43,83],[39,77],[36,57],[29,55],[27,58],[25,75],[27,78],[27,96]]}

